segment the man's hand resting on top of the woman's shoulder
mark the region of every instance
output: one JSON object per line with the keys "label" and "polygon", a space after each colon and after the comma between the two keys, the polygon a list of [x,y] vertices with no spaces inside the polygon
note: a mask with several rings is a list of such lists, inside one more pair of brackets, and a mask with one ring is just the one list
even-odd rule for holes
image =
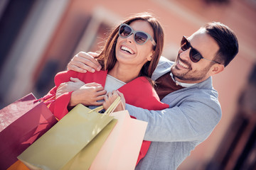
{"label": "man's hand resting on top of the woman's shoulder", "polygon": [[68,63],[68,70],[73,70],[75,72],[95,72],[95,70],[100,71],[102,68],[99,62],[95,60],[99,54],[95,52],[79,52],[73,57],[73,59]]}

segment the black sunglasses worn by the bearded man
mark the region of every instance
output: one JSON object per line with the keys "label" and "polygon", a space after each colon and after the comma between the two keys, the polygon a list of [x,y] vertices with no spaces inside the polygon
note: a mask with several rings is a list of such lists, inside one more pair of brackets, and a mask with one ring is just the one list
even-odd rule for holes
{"label": "black sunglasses worn by the bearded man", "polygon": [[[191,43],[189,42],[189,40],[183,36],[182,40],[181,40],[181,50],[186,51],[191,47],[191,50],[189,52],[189,57],[191,59],[192,62],[199,62],[201,59],[205,59],[208,60],[210,62],[215,62],[213,60],[209,60],[207,58],[204,58],[200,52],[198,52],[198,50],[196,50],[195,48],[193,48],[191,46]],[[220,64],[219,62],[215,62],[217,64]]]}

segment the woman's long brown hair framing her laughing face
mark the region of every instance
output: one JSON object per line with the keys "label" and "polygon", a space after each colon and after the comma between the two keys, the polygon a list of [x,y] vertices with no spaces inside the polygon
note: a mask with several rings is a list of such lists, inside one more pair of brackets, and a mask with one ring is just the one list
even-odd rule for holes
{"label": "woman's long brown hair framing her laughing face", "polygon": [[[126,21],[123,23],[126,23],[129,25],[133,21],[146,21],[150,24],[151,28],[154,30],[154,40],[156,42],[156,46],[154,47],[154,55],[152,56],[152,60],[149,62],[146,62],[144,66],[142,67],[139,77],[151,77],[151,75],[154,72],[154,69],[156,69],[156,66],[159,62],[159,59],[161,57],[161,52],[163,51],[164,47],[164,30],[161,27],[159,21],[156,20],[151,14],[149,13],[137,13],[134,16],[129,17]],[[117,38],[118,35],[119,26],[117,28],[114,28],[112,30],[112,33],[110,33],[109,38],[107,39],[107,42],[105,44],[105,47],[103,47],[102,52],[97,57],[97,60],[102,65],[102,69],[112,69],[114,67],[114,64],[117,62],[117,57],[115,55],[115,48],[117,44]]]}

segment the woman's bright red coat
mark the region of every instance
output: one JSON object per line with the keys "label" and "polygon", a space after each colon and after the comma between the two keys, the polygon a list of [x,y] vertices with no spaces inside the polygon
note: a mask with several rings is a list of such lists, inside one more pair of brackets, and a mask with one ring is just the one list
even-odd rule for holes
{"label": "woman's bright red coat", "polygon": [[[49,94],[55,95],[58,86],[60,86],[60,84],[63,82],[70,81],[70,77],[78,78],[85,82],[85,84],[95,82],[102,84],[104,87],[107,71],[100,71],[95,73],[79,73],[73,71],[59,72],[56,74],[54,79],[55,87],[50,90]],[[159,96],[156,94],[156,91],[145,77],[138,77],[137,79],[130,81],[129,83],[120,87],[118,91],[124,94],[126,103],[132,106],[155,111],[169,108],[169,105],[166,103],[161,103]],[[55,98],[55,100],[50,104],[50,111],[52,111],[55,117],[59,120],[68,113],[68,103],[70,101],[71,94],[72,92],[65,93],[58,98]],[[149,141],[144,141],[142,143],[142,149],[139,153],[137,163],[146,155],[146,152],[149,149],[149,145]]]}

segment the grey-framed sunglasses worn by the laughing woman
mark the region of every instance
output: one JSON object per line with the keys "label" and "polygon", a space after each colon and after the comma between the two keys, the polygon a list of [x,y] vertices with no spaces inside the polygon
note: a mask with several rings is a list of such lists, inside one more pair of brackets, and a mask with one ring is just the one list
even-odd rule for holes
{"label": "grey-framed sunglasses worn by the laughing woman", "polygon": [[134,29],[132,29],[132,27],[130,27],[129,25],[127,25],[125,23],[122,23],[119,26],[118,34],[121,38],[127,38],[127,37],[129,37],[129,35],[134,34],[134,41],[138,45],[144,45],[144,43],[146,43],[147,40],[150,40],[152,42],[152,44],[154,46],[156,46],[156,42],[151,37],[151,35],[149,35],[148,33],[145,33],[144,31],[141,31],[141,30],[134,30]]}

